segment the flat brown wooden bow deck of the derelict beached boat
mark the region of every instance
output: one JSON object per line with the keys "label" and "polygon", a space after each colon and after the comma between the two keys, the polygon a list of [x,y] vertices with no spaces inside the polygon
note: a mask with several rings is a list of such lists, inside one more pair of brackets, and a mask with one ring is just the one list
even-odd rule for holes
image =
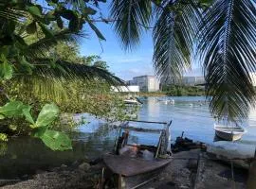
{"label": "flat brown wooden bow deck of the derelict beached boat", "polygon": [[108,154],[103,157],[103,161],[113,173],[131,177],[161,168],[168,163],[171,163],[172,159],[155,159],[153,161],[147,161],[138,158]]}

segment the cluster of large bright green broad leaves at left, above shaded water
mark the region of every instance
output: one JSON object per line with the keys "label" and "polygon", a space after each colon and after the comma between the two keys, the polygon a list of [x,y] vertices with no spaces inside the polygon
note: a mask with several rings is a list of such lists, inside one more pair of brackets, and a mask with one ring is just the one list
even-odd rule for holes
{"label": "cluster of large bright green broad leaves at left, above shaded water", "polygon": [[[0,107],[0,112],[8,117],[25,116],[26,120],[31,124],[29,127],[32,129],[33,136],[40,138],[52,150],[72,148],[71,141],[66,134],[48,129],[50,124],[59,116],[59,109],[55,104],[46,104],[38,114],[36,122],[34,122],[30,114],[30,109],[31,107],[24,105],[20,101],[11,101]],[[0,140],[7,141],[7,135],[0,133]]]}

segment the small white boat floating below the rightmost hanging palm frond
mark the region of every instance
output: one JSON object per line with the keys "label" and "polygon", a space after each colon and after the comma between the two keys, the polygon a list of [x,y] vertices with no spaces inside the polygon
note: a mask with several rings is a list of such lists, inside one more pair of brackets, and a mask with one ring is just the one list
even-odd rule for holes
{"label": "small white boat floating below the rightmost hanging palm frond", "polygon": [[227,141],[237,141],[247,132],[246,129],[240,126],[228,126],[221,124],[214,124],[214,130],[219,138]]}

